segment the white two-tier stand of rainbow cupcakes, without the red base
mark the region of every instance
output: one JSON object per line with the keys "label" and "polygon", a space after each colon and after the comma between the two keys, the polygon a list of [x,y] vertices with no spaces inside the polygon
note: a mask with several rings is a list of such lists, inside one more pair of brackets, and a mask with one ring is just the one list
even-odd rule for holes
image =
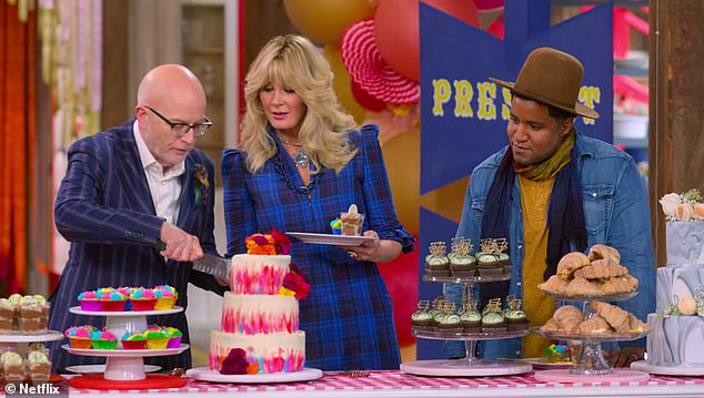
{"label": "white two-tier stand of rainbow cupcakes, without the red base", "polygon": [[[115,337],[120,338],[125,333],[141,333],[147,329],[147,316],[149,315],[168,315],[181,313],[183,307],[173,307],[172,309],[142,310],[142,312],[91,312],[82,310],[80,307],[71,307],[70,313],[77,315],[104,316],[105,329],[111,331]],[[188,344],[182,344],[178,348],[167,349],[81,349],[71,348],[63,345],[61,348],[73,355],[83,355],[89,357],[107,357],[105,380],[144,380],[144,357],[158,357],[167,355],[177,355],[189,349]]]}

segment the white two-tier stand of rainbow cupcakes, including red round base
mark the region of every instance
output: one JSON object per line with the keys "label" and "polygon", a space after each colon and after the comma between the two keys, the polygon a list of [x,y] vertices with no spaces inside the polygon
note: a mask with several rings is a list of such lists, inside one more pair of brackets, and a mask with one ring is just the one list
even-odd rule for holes
{"label": "white two-tier stand of rainbow cupcakes, including red round base", "polygon": [[[147,329],[147,316],[177,314],[183,307],[163,310],[143,312],[89,312],[80,307],[71,307],[72,314],[104,316],[105,329],[120,338],[125,333],[139,333]],[[181,344],[178,348],[165,349],[81,349],[71,348],[68,344],[61,346],[70,354],[89,357],[107,357],[103,375],[86,375],[73,377],[69,385],[77,388],[95,389],[149,389],[175,388],[185,385],[185,378],[167,375],[147,375],[144,373],[144,357],[177,355],[185,351],[189,346]]]}

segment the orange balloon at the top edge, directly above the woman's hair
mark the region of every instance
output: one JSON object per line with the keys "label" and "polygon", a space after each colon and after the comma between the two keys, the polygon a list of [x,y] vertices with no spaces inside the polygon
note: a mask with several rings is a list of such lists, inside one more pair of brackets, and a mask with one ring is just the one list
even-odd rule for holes
{"label": "orange balloon at the top edge, directly above the woman's hair", "polygon": [[340,45],[342,34],[353,22],[374,16],[370,0],[283,0],[291,23],[321,44]]}

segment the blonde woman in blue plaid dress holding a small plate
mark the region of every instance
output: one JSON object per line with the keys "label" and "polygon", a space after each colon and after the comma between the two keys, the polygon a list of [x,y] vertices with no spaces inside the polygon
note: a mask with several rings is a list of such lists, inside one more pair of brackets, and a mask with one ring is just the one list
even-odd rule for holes
{"label": "blonde woman in blue plaid dress holding a small plate", "polygon": [[301,306],[306,366],[398,369],[392,303],[375,263],[413,249],[399,222],[379,145],[379,127],[342,111],[330,64],[308,39],[269,41],[244,83],[242,149],[222,160],[228,254],[272,227],[330,234],[351,204],[374,239],[339,247],[293,239],[292,262],[311,290]]}

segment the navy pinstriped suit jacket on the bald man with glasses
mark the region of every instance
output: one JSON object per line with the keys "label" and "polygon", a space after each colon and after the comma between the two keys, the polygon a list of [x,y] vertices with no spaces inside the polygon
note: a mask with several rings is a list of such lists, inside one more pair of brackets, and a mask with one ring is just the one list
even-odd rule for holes
{"label": "navy pinstriped suit jacket on the bald man with glasses", "polygon": [[[155,248],[162,218],[154,211],[147,176],[132,133],[134,120],[121,126],[81,139],[69,149],[67,174],[54,203],[57,229],[71,242],[69,261],[50,297],[49,328],[63,331],[73,325],[104,326],[104,317],[69,313],[84,290],[112,286],[169,284],[179,292],[178,306],[187,307],[187,287],[194,285],[222,294],[209,275],[191,269],[191,263],[165,262]],[[205,167],[210,192],[195,203],[194,169]],[[185,159],[181,207],[177,226],[199,237],[204,252],[217,253],[213,237],[213,162],[193,149]],[[219,309],[218,309],[219,310]],[[148,323],[173,326],[189,341],[184,313],[148,317]],[[121,336],[117,336],[120,338]],[[101,364],[102,357],[68,354],[51,347],[54,371],[70,365]],[[187,350],[178,356],[144,358],[164,368],[191,365]]]}

